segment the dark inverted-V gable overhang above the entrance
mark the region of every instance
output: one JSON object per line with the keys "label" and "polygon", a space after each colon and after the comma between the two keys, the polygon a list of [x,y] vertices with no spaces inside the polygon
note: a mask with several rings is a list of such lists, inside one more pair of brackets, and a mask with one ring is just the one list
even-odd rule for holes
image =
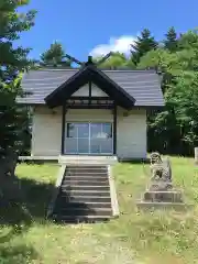
{"label": "dark inverted-V gable overhang above the entrance", "polygon": [[62,84],[44,100],[50,108],[63,106],[72,95],[89,81],[103,90],[116,103],[125,109],[132,109],[135,99],[123,90],[116,81],[110,79],[95,65],[85,65],[74,76]]}

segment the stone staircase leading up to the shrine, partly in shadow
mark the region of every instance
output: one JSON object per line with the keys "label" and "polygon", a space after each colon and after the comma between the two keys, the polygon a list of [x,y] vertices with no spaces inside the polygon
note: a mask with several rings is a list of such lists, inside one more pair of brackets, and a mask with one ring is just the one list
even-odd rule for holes
{"label": "stone staircase leading up to the shrine, partly in shadow", "polygon": [[95,222],[112,217],[107,165],[67,165],[54,204],[53,219]]}

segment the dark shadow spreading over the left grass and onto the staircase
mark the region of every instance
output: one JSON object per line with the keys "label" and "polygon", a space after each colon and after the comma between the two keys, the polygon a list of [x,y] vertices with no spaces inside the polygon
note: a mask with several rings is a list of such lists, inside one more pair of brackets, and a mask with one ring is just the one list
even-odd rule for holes
{"label": "dark shadow spreading over the left grass and onto the staircase", "polygon": [[[75,200],[69,186],[57,190],[53,184],[37,183],[28,177],[7,179],[6,186],[4,196],[0,198],[0,224],[23,226],[21,232],[26,231],[32,223],[36,222],[38,224],[47,221],[89,223],[94,221],[88,216],[97,215],[96,210],[86,202]],[[51,213],[47,218],[47,209],[55,191],[57,191],[57,199],[54,202],[53,215]],[[64,217],[68,217],[67,221],[64,221]]]}

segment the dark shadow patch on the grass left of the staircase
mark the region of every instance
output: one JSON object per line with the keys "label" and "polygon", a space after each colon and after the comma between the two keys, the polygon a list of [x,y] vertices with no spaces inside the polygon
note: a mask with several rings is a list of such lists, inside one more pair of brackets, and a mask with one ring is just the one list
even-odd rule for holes
{"label": "dark shadow patch on the grass left of the staircase", "polygon": [[0,224],[31,226],[46,219],[46,210],[54,189],[53,184],[29,178],[1,180]]}

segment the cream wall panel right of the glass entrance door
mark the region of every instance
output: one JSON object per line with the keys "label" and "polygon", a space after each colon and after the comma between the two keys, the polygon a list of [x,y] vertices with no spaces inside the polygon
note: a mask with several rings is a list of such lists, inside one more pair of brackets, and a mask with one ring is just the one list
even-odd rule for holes
{"label": "cream wall panel right of the glass entrance door", "polygon": [[133,110],[124,117],[124,110],[118,110],[117,154],[120,158],[145,158],[146,111]]}

